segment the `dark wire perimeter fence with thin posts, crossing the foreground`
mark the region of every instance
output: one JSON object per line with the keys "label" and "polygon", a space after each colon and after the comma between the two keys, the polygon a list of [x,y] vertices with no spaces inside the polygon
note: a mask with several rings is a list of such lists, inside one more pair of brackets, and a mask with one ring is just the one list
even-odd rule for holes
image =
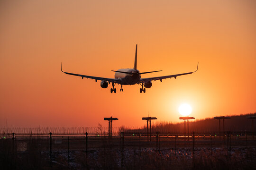
{"label": "dark wire perimeter fence with thin posts, crossing the foreground", "polygon": [[[223,159],[227,159],[227,162],[231,158],[233,161],[237,160],[239,155],[239,161],[253,162],[256,159],[256,140],[253,133],[235,132],[192,132],[186,136],[172,132],[152,132],[151,136],[147,133],[133,132],[120,132],[113,136],[87,132],[74,136],[54,135],[51,132],[47,135],[12,133],[11,136],[0,138],[0,153],[16,155],[14,157],[24,154],[45,155],[51,162],[60,161],[60,158],[65,157],[67,166],[70,165],[69,162],[74,162],[75,155],[77,159],[83,155],[86,162],[107,159],[106,157],[113,158],[121,167],[125,164],[128,166],[128,162],[132,161],[134,156],[138,161],[141,160],[141,155],[158,155],[157,160],[169,160],[172,157],[180,161],[191,161],[191,158],[195,158],[196,155],[202,156],[203,153],[207,157],[214,154],[215,158],[224,155]],[[106,163],[106,160],[103,162]]]}

